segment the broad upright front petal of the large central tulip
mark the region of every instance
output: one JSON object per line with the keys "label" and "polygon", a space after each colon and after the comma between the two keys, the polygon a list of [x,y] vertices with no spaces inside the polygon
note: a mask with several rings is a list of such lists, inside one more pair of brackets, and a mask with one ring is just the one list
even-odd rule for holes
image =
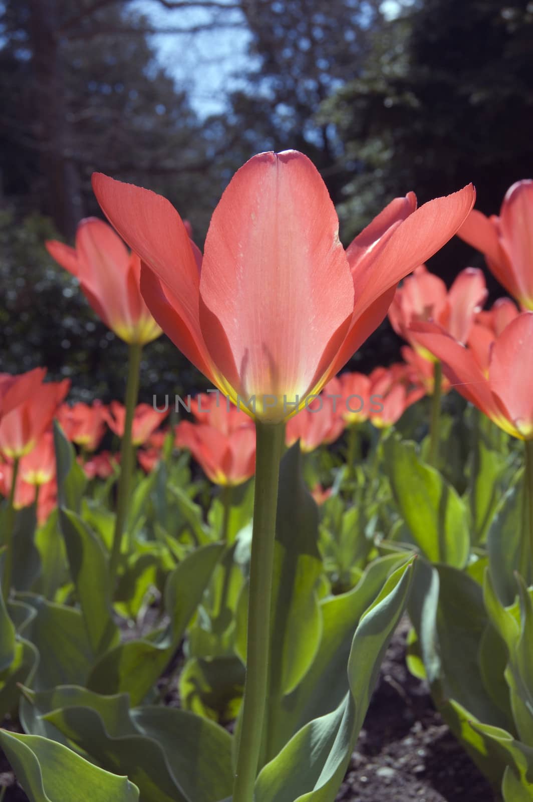
{"label": "broad upright front petal of the large central tulip", "polygon": [[236,391],[302,399],[313,387],[349,325],[353,282],[309,159],[263,153],[236,172],[209,227],[200,296],[209,353]]}

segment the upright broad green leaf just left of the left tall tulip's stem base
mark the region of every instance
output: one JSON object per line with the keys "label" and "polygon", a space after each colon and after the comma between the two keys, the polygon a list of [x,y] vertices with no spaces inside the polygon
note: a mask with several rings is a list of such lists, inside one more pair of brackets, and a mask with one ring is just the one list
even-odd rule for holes
{"label": "upright broad green leaf just left of the left tall tulip's stem base", "polygon": [[111,618],[111,590],[107,555],[87,524],[71,510],[59,509],[59,521],[87,637],[95,657],[119,640]]}

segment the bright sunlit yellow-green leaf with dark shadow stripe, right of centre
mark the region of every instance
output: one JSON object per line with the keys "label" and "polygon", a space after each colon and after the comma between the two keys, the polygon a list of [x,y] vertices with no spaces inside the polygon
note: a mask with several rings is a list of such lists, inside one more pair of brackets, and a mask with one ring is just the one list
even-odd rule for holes
{"label": "bright sunlit yellow-green leaf with dark shadow stripe, right of centre", "polygon": [[470,553],[466,505],[441,474],[398,435],[383,442],[384,467],[398,512],[430,562],[462,568]]}

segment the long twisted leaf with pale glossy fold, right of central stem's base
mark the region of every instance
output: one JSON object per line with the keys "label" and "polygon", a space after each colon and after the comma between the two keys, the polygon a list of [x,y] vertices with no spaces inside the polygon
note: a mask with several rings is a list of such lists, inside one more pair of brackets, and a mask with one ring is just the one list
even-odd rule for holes
{"label": "long twisted leaf with pale glossy fold, right of central stem's base", "polygon": [[333,802],[378,678],[386,646],[405,610],[412,565],[386,581],[361,617],[348,659],[349,691],[333,712],[313,719],[256,780],[255,802]]}

